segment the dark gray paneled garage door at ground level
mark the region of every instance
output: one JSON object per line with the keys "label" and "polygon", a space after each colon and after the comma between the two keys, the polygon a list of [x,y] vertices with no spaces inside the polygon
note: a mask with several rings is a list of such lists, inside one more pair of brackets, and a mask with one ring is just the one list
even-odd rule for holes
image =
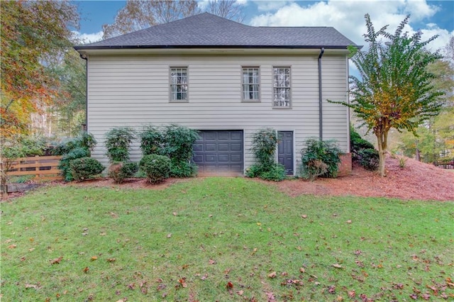
{"label": "dark gray paneled garage door at ground level", "polygon": [[202,130],[194,144],[199,174],[242,174],[243,131]]}

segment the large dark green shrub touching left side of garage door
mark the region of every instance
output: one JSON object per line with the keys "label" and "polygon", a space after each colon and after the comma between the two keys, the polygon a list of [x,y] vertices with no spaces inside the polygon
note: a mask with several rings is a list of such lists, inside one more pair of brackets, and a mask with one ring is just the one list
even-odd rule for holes
{"label": "large dark green shrub touching left side of garage door", "polygon": [[170,176],[193,177],[197,167],[191,162],[192,145],[199,138],[199,132],[181,125],[167,125],[156,128],[147,126],[140,133],[140,148],[144,155],[165,155],[172,160]]}

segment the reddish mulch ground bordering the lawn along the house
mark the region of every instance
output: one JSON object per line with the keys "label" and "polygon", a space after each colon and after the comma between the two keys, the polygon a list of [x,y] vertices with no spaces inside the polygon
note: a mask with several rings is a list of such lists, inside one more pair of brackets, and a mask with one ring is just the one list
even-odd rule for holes
{"label": "reddish mulch ground bordering the lawn along the house", "polygon": [[[454,201],[454,171],[424,164],[406,158],[406,166],[399,167],[399,160],[387,157],[387,177],[380,177],[377,172],[370,172],[358,164],[353,164],[353,172],[337,179],[301,179],[286,180],[278,183],[264,181],[277,186],[290,196],[301,194],[331,196],[376,196],[401,199],[419,199],[436,201]],[[128,179],[123,184],[115,184],[112,179],[94,179],[80,183],[57,181],[62,186],[108,186],[128,189],[165,189],[187,179],[167,179],[162,184],[149,184],[145,179]],[[260,181],[260,180],[258,180]],[[55,183],[55,182],[54,182]],[[23,194],[12,194],[16,197]]]}

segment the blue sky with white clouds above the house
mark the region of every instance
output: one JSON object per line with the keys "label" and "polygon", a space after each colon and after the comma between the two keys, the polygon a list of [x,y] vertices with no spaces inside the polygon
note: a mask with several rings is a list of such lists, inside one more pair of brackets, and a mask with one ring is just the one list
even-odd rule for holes
{"label": "blue sky with white clouds above the house", "polygon": [[[205,0],[206,1],[206,0]],[[434,49],[443,47],[454,35],[454,1],[425,0],[328,0],[257,1],[238,0],[245,20],[252,26],[333,26],[358,45],[364,45],[364,15],[369,13],[375,28],[389,24],[394,30],[406,14],[411,14],[408,30],[422,30],[423,38],[440,35]],[[74,1],[81,16],[78,34],[94,42],[102,35],[102,25],[113,23],[126,1]],[[204,6],[204,0],[199,1]]]}

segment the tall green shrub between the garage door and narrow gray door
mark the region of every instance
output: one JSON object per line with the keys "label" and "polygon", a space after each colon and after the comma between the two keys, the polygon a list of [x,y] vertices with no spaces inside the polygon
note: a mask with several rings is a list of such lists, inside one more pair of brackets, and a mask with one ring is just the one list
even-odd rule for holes
{"label": "tall green shrub between the garage door and narrow gray door", "polygon": [[250,150],[257,163],[248,168],[246,177],[259,177],[272,181],[285,179],[284,166],[275,162],[277,142],[277,132],[272,128],[263,128],[254,133]]}

